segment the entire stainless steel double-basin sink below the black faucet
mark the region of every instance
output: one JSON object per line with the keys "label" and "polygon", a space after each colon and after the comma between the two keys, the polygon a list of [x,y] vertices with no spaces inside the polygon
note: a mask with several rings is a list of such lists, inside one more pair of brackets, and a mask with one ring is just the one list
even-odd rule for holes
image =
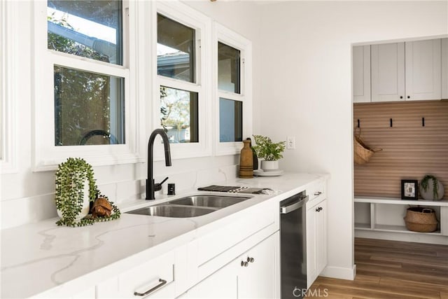
{"label": "entire stainless steel double-basin sink below the black faucet", "polygon": [[251,197],[231,195],[191,195],[163,204],[128,211],[128,214],[189,218],[209,214],[232,204],[244,202]]}

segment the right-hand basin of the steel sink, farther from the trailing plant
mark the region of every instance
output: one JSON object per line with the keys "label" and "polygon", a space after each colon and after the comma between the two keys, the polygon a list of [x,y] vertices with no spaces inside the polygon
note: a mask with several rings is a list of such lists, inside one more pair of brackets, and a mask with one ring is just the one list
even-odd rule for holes
{"label": "right-hand basin of the steel sink, farther from the trailing plant", "polygon": [[188,197],[179,198],[179,200],[172,200],[170,204],[179,204],[183,206],[195,206],[195,207],[214,207],[225,208],[238,202],[243,202],[251,197],[242,196],[228,196],[228,195],[193,195]]}

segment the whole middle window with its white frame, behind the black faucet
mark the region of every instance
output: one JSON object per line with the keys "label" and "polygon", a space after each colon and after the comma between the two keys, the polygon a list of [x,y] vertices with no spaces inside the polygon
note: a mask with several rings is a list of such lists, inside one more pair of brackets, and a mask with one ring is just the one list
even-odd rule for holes
{"label": "whole middle window with its white frame, behind the black faucet", "polygon": [[[211,154],[211,22],[178,1],[155,2],[157,76],[155,121],[172,144],[173,158]],[[207,69],[207,66],[209,67]],[[155,156],[161,157],[155,148]]]}

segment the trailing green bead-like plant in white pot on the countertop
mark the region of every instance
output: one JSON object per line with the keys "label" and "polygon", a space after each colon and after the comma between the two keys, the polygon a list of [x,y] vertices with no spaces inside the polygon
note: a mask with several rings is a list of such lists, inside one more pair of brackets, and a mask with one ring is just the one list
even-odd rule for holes
{"label": "trailing green bead-like plant in white pot on the countertop", "polygon": [[[83,226],[97,221],[120,218],[120,210],[110,202],[113,214],[102,218],[89,214],[90,202],[97,200],[99,190],[94,180],[92,166],[81,158],[68,158],[57,167],[56,208],[61,218],[57,225]],[[99,195],[107,199],[104,195]]]}

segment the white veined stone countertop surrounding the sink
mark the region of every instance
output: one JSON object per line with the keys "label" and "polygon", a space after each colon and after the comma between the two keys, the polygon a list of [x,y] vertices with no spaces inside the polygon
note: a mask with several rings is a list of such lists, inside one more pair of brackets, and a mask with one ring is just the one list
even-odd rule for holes
{"label": "white veined stone countertop surrounding the sink", "polygon": [[126,202],[120,205],[120,219],[81,228],[59,227],[55,224],[57,218],[52,218],[1,230],[1,298],[42,296],[64,284],[84,288],[97,284],[222,227],[229,215],[265,200],[283,200],[324,176],[283,174],[217,183],[272,188],[276,193],[253,195],[250,200],[194,218],[142,216],[125,211],[206,192],[187,190],[174,196],[161,195],[152,202]]}

